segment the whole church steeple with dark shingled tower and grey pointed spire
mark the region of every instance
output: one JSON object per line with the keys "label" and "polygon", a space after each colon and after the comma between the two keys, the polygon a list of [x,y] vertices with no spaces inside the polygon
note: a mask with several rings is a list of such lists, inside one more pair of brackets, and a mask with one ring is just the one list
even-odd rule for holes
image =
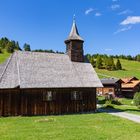
{"label": "whole church steeple with dark shingled tower and grey pointed spire", "polygon": [[66,53],[69,55],[71,61],[84,62],[83,43],[84,40],[79,35],[74,17],[71,32],[65,40]]}

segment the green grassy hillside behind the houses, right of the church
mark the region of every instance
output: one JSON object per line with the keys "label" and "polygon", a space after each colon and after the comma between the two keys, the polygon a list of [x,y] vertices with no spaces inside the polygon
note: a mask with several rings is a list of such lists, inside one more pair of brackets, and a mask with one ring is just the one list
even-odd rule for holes
{"label": "green grassy hillside behind the houses, right of the church", "polygon": [[[99,70],[96,69],[97,73],[113,76],[113,77],[132,77],[136,76],[140,78],[140,62],[136,61],[128,61],[121,59],[121,64],[124,70],[119,71],[107,71],[107,70]],[[103,78],[103,76],[99,76],[100,78]]]}

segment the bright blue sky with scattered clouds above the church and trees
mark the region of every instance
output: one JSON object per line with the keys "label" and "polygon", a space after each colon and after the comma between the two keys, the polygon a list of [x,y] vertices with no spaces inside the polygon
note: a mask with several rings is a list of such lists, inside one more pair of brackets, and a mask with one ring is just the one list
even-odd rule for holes
{"label": "bright blue sky with scattered clouds above the church and trees", "polygon": [[86,53],[140,53],[140,0],[0,0],[0,37],[65,52],[73,15]]}

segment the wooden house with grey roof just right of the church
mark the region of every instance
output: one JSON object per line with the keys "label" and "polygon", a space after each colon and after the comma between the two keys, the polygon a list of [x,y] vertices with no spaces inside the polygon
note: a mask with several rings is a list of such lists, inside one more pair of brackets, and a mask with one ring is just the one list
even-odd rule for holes
{"label": "wooden house with grey roof just right of the church", "polygon": [[98,95],[108,95],[111,94],[114,97],[121,96],[121,79],[116,78],[105,78],[101,79],[101,83],[103,84],[102,88],[97,88]]}

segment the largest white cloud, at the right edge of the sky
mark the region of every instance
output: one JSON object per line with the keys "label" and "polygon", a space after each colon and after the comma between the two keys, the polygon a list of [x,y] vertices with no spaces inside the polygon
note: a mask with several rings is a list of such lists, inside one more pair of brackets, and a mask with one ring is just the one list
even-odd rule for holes
{"label": "largest white cloud, at the right edge of the sky", "polygon": [[129,24],[138,24],[140,23],[140,16],[129,16],[124,21],[122,21],[121,25],[129,25]]}

